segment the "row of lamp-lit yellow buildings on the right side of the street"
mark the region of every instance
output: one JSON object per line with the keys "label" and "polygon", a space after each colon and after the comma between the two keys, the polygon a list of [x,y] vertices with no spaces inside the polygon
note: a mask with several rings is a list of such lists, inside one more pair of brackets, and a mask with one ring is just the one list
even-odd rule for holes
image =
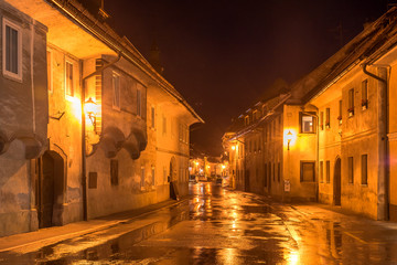
{"label": "row of lamp-lit yellow buildings on the right side of the street", "polygon": [[397,220],[396,14],[390,9],[293,83],[259,121],[251,118],[258,106],[239,117],[242,126],[224,138],[245,150],[230,156],[237,188]]}

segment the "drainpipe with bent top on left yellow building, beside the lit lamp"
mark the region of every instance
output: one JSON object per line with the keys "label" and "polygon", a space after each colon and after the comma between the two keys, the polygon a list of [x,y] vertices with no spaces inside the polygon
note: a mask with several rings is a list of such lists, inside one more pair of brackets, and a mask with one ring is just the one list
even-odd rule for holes
{"label": "drainpipe with bent top on left yellow building, beside the lit lamp", "polygon": [[[85,132],[85,113],[84,113],[84,104],[85,104],[85,92],[86,92],[86,85],[85,82],[89,77],[93,77],[94,75],[100,74],[106,70],[107,67],[114,65],[121,59],[121,53],[118,53],[118,56],[115,61],[108,63],[107,65],[101,66],[100,68],[96,70],[95,72],[90,73],[89,75],[85,76],[83,78],[82,84],[82,184],[83,184],[83,219],[84,221],[88,220],[88,192],[87,192],[87,161],[86,161],[86,132]],[[83,70],[83,67],[82,67]]]}

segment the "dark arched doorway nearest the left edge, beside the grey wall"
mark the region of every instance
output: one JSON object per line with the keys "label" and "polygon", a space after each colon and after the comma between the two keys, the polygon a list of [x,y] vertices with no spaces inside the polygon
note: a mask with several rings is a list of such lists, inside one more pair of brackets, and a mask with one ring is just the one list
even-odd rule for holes
{"label": "dark arched doorway nearest the left edge, beside the grey wall", "polygon": [[39,227],[62,225],[64,160],[55,151],[37,159],[36,205]]}

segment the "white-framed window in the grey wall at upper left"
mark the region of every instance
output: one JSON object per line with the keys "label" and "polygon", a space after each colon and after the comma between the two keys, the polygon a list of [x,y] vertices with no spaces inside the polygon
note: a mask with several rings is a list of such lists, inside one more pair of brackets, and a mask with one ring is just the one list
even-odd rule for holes
{"label": "white-framed window in the grey wall at upper left", "polygon": [[21,28],[3,19],[3,75],[22,80],[22,35]]}

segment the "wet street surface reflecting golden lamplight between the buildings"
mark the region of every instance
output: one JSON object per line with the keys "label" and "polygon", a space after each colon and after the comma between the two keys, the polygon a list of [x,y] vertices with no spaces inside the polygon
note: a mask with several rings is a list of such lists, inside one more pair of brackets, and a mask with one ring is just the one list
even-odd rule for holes
{"label": "wet street surface reflecting golden lamplight between the buildings", "polygon": [[133,222],[0,253],[0,264],[397,264],[396,223],[210,182],[190,190]]}

